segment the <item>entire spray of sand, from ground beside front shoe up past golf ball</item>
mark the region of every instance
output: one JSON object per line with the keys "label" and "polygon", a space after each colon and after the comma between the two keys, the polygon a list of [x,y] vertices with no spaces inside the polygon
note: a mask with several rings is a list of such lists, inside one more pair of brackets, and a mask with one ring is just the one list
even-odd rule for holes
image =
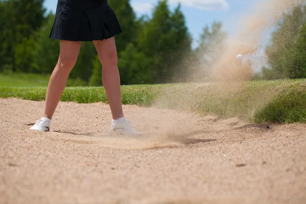
{"label": "entire spray of sand, from ground beside front shoe up past golf ball", "polygon": [[[141,136],[131,138],[104,135],[95,140],[103,146],[120,149],[175,147],[212,141],[210,138],[212,132],[226,129],[232,124],[242,124],[243,122],[237,118],[224,122],[224,120],[217,121],[215,116],[198,117],[195,113],[187,112],[201,106],[203,98],[214,100],[215,104],[208,104],[209,106],[226,105],[224,101],[218,101],[218,98],[207,98],[208,96],[232,95],[235,97],[235,93],[241,91],[245,82],[250,79],[251,65],[254,61],[248,61],[248,59],[253,57],[256,63],[263,62],[262,58],[256,56],[267,38],[267,31],[273,27],[284,10],[299,3],[301,3],[299,0],[263,1],[253,7],[253,12],[240,16],[239,18],[243,19],[240,22],[241,30],[236,36],[228,39],[222,47],[222,52],[218,53],[218,58],[210,67],[212,70],[209,75],[210,82],[191,83],[197,75],[202,76],[202,74],[198,72],[199,69],[187,69],[187,72],[193,72],[188,75],[192,77],[187,80],[189,82],[187,85],[171,86],[157,99],[155,103],[157,109],[144,109],[141,116],[138,116],[138,121],[134,121],[134,124],[146,124]],[[238,54],[245,56],[244,63],[236,60]],[[201,79],[195,81],[199,82]],[[212,81],[214,83],[211,83]],[[163,111],[161,108],[175,110]],[[92,138],[89,139],[92,140]]]}

